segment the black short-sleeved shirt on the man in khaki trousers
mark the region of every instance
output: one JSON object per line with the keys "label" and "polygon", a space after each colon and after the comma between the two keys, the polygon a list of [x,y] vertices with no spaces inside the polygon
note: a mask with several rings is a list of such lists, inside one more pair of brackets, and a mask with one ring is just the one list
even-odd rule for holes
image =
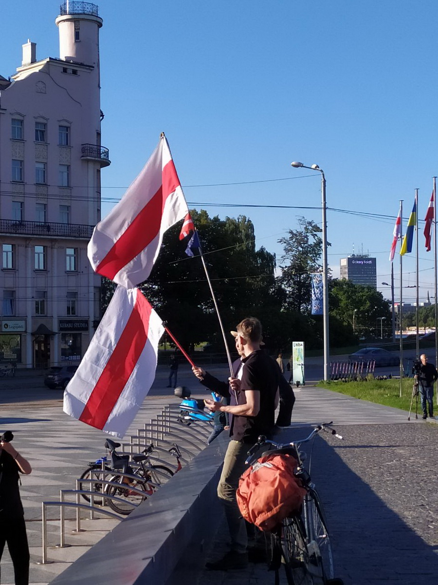
{"label": "black short-sleeved shirt on the man in khaki trousers", "polygon": [[244,443],[255,443],[259,435],[269,436],[273,431],[275,396],[279,387],[280,370],[262,349],[252,352],[242,362],[238,404],[245,404],[245,390],[255,390],[260,393],[260,410],[256,417],[233,415],[230,436]]}

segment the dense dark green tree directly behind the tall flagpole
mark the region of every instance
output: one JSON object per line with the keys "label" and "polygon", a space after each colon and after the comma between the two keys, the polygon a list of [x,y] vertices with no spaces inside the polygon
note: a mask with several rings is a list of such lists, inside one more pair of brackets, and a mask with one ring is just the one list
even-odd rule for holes
{"label": "dense dark green tree directly behind the tall flagpole", "polygon": [[[213,285],[225,331],[242,318],[280,311],[283,297],[274,276],[275,257],[263,247],[256,249],[250,219],[210,218],[206,211],[191,211],[199,233],[204,261]],[[189,347],[203,340],[217,342],[222,336],[200,257],[189,258],[187,242],[179,242],[180,224],[164,236],[150,278],[141,285],[145,296],[169,329]],[[230,336],[230,346],[234,348]]]}

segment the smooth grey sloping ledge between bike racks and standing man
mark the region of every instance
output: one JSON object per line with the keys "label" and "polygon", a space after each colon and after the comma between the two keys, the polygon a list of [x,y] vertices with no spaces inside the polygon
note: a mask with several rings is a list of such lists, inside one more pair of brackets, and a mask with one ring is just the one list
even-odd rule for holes
{"label": "smooth grey sloping ledge between bike racks and standing man", "polygon": [[[150,499],[123,519],[53,585],[164,584],[189,542],[213,538],[220,519],[212,514],[228,445],[222,433]],[[219,508],[214,506],[214,508]]]}

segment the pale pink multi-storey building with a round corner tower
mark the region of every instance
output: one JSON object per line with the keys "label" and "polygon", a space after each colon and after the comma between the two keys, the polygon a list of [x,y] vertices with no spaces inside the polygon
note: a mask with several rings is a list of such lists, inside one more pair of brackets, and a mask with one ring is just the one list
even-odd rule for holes
{"label": "pale pink multi-storey building with a round corner tower", "polygon": [[60,56],[23,44],[0,75],[0,363],[78,362],[100,318],[100,278],[86,255],[100,220],[98,6],[67,1]]}

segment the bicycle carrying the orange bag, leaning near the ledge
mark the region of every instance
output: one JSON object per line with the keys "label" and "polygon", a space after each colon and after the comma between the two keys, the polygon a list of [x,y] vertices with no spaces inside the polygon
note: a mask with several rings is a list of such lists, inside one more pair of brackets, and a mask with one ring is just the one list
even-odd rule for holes
{"label": "bicycle carrying the orange bag, leaning near the ledge", "polygon": [[[268,445],[269,450],[263,455],[273,453],[287,453],[297,460],[294,476],[300,480],[305,488],[305,495],[301,510],[289,515],[281,521],[281,525],[270,532],[270,546],[272,560],[270,569],[276,571],[276,583],[279,579],[279,567],[284,566],[286,579],[289,585],[342,585],[341,579],[333,577],[333,555],[327,523],[322,507],[321,499],[312,483],[310,473],[304,468],[305,453],[300,451],[302,443],[315,439],[318,432],[331,432],[337,438],[342,436],[331,427],[332,423],[321,423],[315,426],[304,439],[291,443],[276,443],[259,436],[256,444],[248,451],[247,464],[256,462],[255,454],[263,446]],[[312,443],[313,449],[313,443]],[[310,455],[311,461],[312,452]],[[310,466],[309,466],[310,467]]]}

